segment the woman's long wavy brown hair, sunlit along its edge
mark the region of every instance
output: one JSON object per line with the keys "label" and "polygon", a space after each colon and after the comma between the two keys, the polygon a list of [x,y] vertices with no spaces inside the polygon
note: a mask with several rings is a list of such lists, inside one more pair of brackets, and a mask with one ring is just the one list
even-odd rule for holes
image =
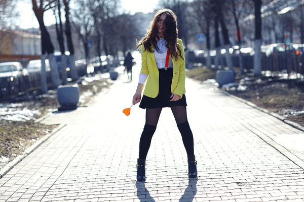
{"label": "woman's long wavy brown hair, sunlit along its edge", "polygon": [[[143,51],[149,51],[153,53],[152,47],[156,47],[156,51],[160,52],[156,43],[156,35],[158,34],[157,22],[160,20],[162,14],[166,15],[165,25],[166,29],[164,31],[164,39],[167,41],[167,48],[170,49],[171,57],[174,57],[175,60],[178,59],[178,56],[181,56],[181,50],[179,48],[179,44],[177,42],[177,17],[170,9],[159,9],[155,15],[153,20],[150,22],[150,26],[147,30],[146,35],[137,43],[137,49],[142,48],[142,44],[144,45]],[[183,59],[183,58],[182,58]]]}

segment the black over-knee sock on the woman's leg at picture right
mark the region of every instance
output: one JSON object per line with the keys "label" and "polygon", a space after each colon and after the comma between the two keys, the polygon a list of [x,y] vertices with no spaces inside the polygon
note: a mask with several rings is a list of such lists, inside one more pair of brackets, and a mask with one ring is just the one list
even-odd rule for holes
{"label": "black over-knee sock on the woman's leg at picture right", "polygon": [[186,121],[184,123],[177,124],[178,130],[182,137],[182,142],[185,146],[188,156],[194,155],[194,140],[193,134],[190,129],[189,123]]}

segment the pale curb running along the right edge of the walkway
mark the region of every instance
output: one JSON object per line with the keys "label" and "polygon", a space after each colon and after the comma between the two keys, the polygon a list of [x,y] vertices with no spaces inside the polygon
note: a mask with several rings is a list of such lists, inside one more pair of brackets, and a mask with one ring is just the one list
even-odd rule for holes
{"label": "pale curb running along the right edge of the walkway", "polygon": [[278,114],[276,114],[276,113],[274,113],[274,112],[270,112],[270,111],[268,111],[268,110],[266,110],[266,109],[264,109],[264,108],[260,108],[260,107],[256,106],[255,104],[253,104],[253,103],[251,103],[251,102],[249,102],[249,101],[247,101],[247,100],[245,100],[245,99],[243,99],[243,98],[240,98],[240,97],[237,97],[237,96],[235,96],[235,95],[232,95],[232,94],[230,94],[229,92],[226,92],[226,91],[224,91],[224,90],[222,90],[222,89],[220,89],[220,88],[218,88],[218,89],[219,89],[220,92],[223,93],[224,95],[233,97],[234,99],[237,99],[237,100],[239,100],[240,102],[245,103],[246,105],[249,105],[250,107],[252,107],[252,108],[254,108],[254,109],[257,109],[257,110],[259,110],[259,111],[261,111],[261,112],[264,112],[264,113],[266,113],[266,114],[269,114],[269,115],[271,115],[271,116],[273,116],[273,117],[275,117],[275,118],[277,118],[277,119],[283,121],[284,123],[286,123],[286,124],[288,124],[288,125],[290,125],[290,126],[296,128],[296,129],[301,130],[301,131],[304,132],[304,127],[302,127],[301,125],[299,125],[299,124],[297,124],[297,123],[295,123],[295,122],[293,122],[293,121],[289,121],[289,120],[287,120],[285,117],[282,117],[281,115],[278,115]]}

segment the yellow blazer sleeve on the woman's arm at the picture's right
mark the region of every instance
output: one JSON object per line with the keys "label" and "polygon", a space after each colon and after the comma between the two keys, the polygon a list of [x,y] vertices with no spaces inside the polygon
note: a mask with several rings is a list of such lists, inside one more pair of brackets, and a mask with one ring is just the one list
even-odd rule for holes
{"label": "yellow blazer sleeve on the woman's arm at the picture's right", "polygon": [[182,40],[178,39],[178,43],[181,51],[181,56],[183,59],[181,57],[179,58],[179,77],[178,77],[177,86],[173,91],[173,94],[177,94],[181,98],[185,89],[186,68],[185,68],[185,54],[184,54]]}

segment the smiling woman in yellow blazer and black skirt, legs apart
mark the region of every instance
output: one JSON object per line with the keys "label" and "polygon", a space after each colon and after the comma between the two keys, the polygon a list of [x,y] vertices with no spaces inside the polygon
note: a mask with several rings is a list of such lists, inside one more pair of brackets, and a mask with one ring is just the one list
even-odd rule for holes
{"label": "smiling woman in yellow blazer and black skirt, legs apart", "polygon": [[[188,176],[197,177],[193,134],[186,114],[185,60],[182,40],[177,38],[176,15],[158,10],[150,28],[137,44],[141,49],[141,71],[133,105],[146,109],[146,120],[139,142],[137,180],[145,180],[145,159],[164,107],[170,107],[187,152]],[[141,99],[145,81],[146,86]],[[141,101],[140,101],[141,100]]]}

